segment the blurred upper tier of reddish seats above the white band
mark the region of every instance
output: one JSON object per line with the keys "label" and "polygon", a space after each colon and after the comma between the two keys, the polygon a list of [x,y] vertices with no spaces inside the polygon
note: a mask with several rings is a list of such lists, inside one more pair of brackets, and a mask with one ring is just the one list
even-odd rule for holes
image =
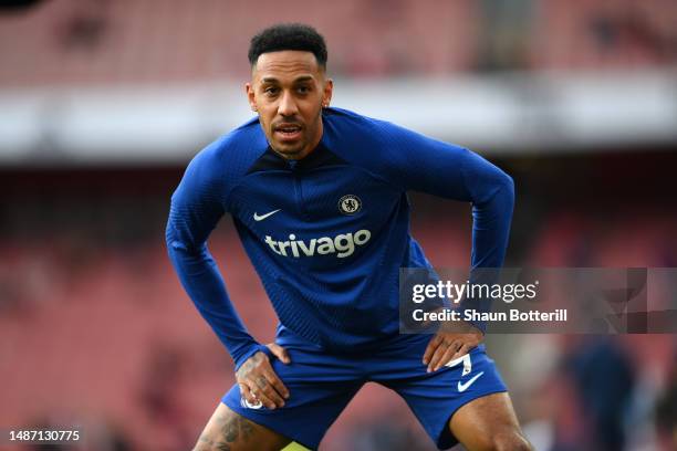
{"label": "blurred upper tier of reddish seats above the white band", "polygon": [[[306,2],[292,0],[283,9],[272,0],[257,6],[253,15],[244,0],[45,1],[35,10],[0,17],[0,84],[241,80],[249,36],[262,24],[298,20]],[[350,0],[326,2],[306,20],[331,43],[336,76],[633,70],[677,62],[677,7],[669,0],[498,6]]]}

